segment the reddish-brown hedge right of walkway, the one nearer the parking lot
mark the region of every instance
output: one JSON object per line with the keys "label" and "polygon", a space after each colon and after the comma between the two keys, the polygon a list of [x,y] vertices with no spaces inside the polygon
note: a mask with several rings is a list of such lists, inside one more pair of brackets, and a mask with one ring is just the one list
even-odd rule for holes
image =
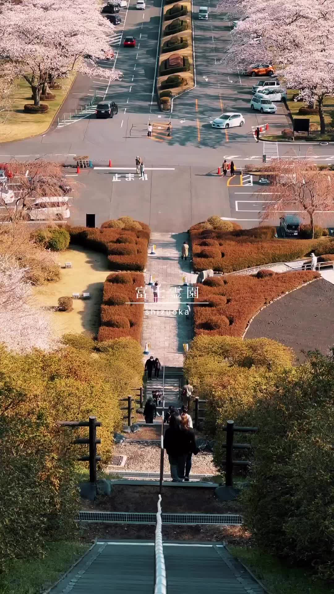
{"label": "reddish-brown hedge right of walkway, the one nearer the parking lot", "polygon": [[[204,225],[204,223],[198,223]],[[334,253],[334,239],[274,239],[275,228],[257,228],[223,232],[219,229],[190,229],[194,271],[213,270],[228,273],[242,268],[262,266],[272,262],[297,260],[314,251],[316,255]],[[212,244],[218,242],[218,245]],[[210,243],[206,247],[203,242]],[[213,251],[221,251],[221,257],[208,257]]]}

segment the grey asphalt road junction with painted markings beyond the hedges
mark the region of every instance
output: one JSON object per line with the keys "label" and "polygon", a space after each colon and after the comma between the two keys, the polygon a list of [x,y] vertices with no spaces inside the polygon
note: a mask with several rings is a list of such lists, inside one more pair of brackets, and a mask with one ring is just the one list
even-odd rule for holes
{"label": "grey asphalt road junction with painted markings beyond the hedges", "polygon": [[[136,10],[136,0],[130,0],[121,11],[121,25],[109,39],[115,60],[107,66],[120,69],[122,80],[109,83],[79,75],[59,113],[59,125],[55,121],[39,137],[1,144],[0,158],[4,161],[12,156],[19,160],[43,156],[73,165],[74,157],[83,154],[94,166],[108,166],[111,160],[116,169],[84,170],[80,177],[71,178],[80,182],[79,197],[71,209],[73,223],[85,224],[86,214],[96,214],[96,225],[130,214],[155,231],[181,231],[210,214],[220,214],[240,220],[242,226],[253,226],[259,215],[253,206],[239,204],[238,192],[253,204],[250,192],[254,187],[249,187],[247,176],[239,187],[228,187],[226,178],[218,178],[216,172],[223,159],[234,160],[238,168],[246,163],[259,164],[263,154],[267,162],[277,156],[334,162],[333,144],[256,143],[253,129],[257,125],[269,123],[271,131],[286,127],[285,108],[278,103],[277,115],[261,115],[250,109],[254,78],[242,76],[237,65],[231,72],[224,64],[231,39],[229,24],[216,12],[216,0],[209,0],[209,20],[198,21],[200,4],[203,0],[194,0],[196,87],[174,101],[171,137],[166,132],[169,114],[157,108],[154,91],[161,0],[148,0],[145,11]],[[136,48],[123,47],[127,35],[136,37]],[[97,120],[94,106],[81,113],[94,93],[99,100],[115,100],[118,115]],[[75,109],[77,116],[70,119],[68,112]],[[212,128],[212,119],[225,111],[240,111],[244,126],[226,131]],[[153,122],[152,138],[147,138],[149,118]],[[143,182],[126,175],[134,172],[131,168],[137,154],[146,165],[147,179]],[[73,170],[68,173],[75,176]],[[116,173],[121,177],[114,179]]]}

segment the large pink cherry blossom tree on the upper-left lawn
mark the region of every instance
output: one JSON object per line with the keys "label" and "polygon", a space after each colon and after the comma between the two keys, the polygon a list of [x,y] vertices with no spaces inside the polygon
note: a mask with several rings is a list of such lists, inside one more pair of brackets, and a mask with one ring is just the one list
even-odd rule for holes
{"label": "large pink cherry blossom tree on the upper-left lawn", "polygon": [[100,14],[98,0],[22,0],[19,8],[5,2],[0,21],[0,54],[30,85],[36,106],[50,75],[76,70],[90,77],[121,77],[115,68],[97,64],[113,55],[107,36],[114,31]]}

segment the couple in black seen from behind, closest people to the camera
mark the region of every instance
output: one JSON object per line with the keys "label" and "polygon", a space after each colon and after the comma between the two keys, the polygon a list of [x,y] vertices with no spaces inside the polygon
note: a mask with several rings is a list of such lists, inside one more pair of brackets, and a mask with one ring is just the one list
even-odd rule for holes
{"label": "couple in black seen from behind, closest people to the camera", "polygon": [[164,422],[169,425],[163,438],[163,447],[168,454],[172,481],[189,481],[192,456],[196,456],[199,450],[187,406],[182,405],[181,414],[177,408],[169,406]]}

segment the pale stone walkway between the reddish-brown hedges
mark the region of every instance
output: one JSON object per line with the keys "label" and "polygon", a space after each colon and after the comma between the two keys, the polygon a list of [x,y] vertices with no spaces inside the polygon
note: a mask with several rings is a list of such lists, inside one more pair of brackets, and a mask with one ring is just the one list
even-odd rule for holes
{"label": "pale stone walkway between the reddish-brown hedges", "polygon": [[[158,357],[161,364],[182,368],[184,343],[193,339],[192,311],[185,314],[188,302],[187,287],[183,277],[190,283],[190,257],[181,260],[181,246],[188,241],[188,233],[152,233],[151,244],[156,244],[156,255],[147,258],[146,301],[144,304],[143,333],[141,343],[150,343],[150,353]],[[150,275],[161,283],[159,302],[153,304],[152,287],[148,285]],[[192,310],[192,306],[190,305]],[[147,356],[146,356],[147,358]]]}

